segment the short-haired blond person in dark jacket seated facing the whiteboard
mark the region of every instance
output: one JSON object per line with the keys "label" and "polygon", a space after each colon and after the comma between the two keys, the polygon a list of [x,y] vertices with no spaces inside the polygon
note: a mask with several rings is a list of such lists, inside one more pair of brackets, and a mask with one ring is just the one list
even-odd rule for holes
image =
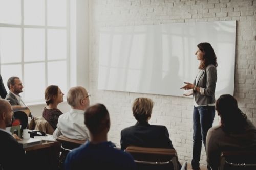
{"label": "short-haired blond person in dark jacket seated facing the whiteboard", "polygon": [[134,126],[121,131],[121,149],[129,145],[152,148],[174,148],[165,126],[150,125],[153,101],[148,98],[137,98],[133,103],[133,116],[137,120]]}

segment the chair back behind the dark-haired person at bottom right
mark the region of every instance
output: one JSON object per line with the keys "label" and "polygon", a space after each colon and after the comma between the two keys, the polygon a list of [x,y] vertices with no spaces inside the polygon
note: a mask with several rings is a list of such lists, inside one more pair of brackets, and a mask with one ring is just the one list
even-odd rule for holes
{"label": "chair back behind the dark-haired person at bottom right", "polygon": [[223,151],[219,169],[256,169],[256,151]]}

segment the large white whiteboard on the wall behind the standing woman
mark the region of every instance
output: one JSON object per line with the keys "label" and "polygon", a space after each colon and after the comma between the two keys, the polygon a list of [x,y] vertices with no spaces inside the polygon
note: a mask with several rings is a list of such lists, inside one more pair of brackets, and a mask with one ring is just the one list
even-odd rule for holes
{"label": "large white whiteboard on the wall behind the standing woman", "polygon": [[98,89],[183,96],[183,82],[197,75],[201,42],[217,56],[216,96],[233,95],[236,21],[101,28]]}

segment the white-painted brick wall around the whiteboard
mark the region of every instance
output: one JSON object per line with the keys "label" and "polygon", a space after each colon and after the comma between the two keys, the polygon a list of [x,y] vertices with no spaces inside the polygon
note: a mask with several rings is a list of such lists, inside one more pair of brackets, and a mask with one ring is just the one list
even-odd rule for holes
{"label": "white-painted brick wall around the whiteboard", "polygon": [[[179,159],[191,160],[192,100],[174,96],[97,90],[99,28],[172,22],[236,20],[234,95],[256,125],[256,1],[252,0],[91,0],[90,92],[92,103],[103,103],[111,114],[109,140],[120,145],[120,131],[136,123],[131,110],[137,97],[153,99],[151,124],[165,125]],[[217,56],[225,57],[225,56]],[[218,123],[218,117],[215,123]],[[202,149],[202,164],[206,164]]]}

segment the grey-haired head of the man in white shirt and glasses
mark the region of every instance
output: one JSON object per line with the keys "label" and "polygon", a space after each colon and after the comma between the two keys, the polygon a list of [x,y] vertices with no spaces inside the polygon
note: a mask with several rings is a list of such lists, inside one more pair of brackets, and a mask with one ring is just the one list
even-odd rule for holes
{"label": "grey-haired head of the man in white shirt and glasses", "polygon": [[87,91],[82,86],[71,87],[67,93],[67,102],[70,106],[77,107],[79,106],[80,101],[86,98],[86,95]]}

